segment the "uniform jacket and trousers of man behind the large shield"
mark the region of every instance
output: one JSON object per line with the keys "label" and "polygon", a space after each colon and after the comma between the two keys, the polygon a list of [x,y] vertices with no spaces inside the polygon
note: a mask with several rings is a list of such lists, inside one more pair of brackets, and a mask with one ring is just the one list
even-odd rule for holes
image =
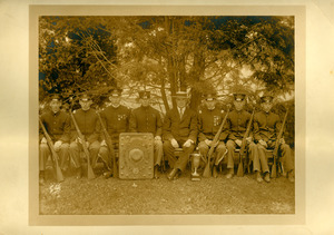
{"label": "uniform jacket and trousers of man behind the large shield", "polygon": [[[155,137],[161,136],[161,117],[158,110],[153,107],[139,107],[132,110],[129,120],[131,133],[151,133]],[[163,158],[163,141],[155,139],[154,165],[160,165]]]}

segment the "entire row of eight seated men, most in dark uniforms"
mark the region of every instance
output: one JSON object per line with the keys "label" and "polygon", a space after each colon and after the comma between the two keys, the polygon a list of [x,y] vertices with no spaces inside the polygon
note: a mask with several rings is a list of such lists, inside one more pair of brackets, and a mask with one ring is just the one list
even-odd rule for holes
{"label": "entire row of eight seated men, most in dark uniforms", "polygon": [[[233,97],[234,108],[229,111],[217,105],[214,94],[208,94],[204,97],[204,106],[196,112],[187,107],[187,92],[179,91],[175,95],[177,106],[167,111],[163,121],[159,111],[150,106],[149,91],[140,91],[138,98],[140,107],[130,110],[120,105],[121,90],[114,89],[109,94],[111,105],[100,112],[90,108],[92,100],[87,94],[79,98],[81,108],[72,112],[61,110],[61,97],[52,95],[49,109],[40,116],[40,128],[43,131],[42,129],[40,131],[39,182],[41,185],[45,184],[47,160],[55,151],[58,156],[56,160],[57,164],[59,163],[58,167],[62,172],[67,170],[70,160],[76,168],[76,177],[80,178],[82,176],[80,158],[82,145],[86,151],[89,151],[90,159],[88,160],[91,168],[96,168],[100,158],[105,166],[105,177],[112,176],[114,170],[117,169],[112,165],[117,165],[117,161],[114,160],[115,154],[110,153],[110,146],[107,145],[102,129],[107,130],[112,140],[111,149],[118,149],[121,133],[151,133],[155,136],[155,178],[159,177],[161,164],[165,164],[161,163],[163,159],[168,160],[171,169],[167,178],[173,180],[179,177],[185,172],[189,156],[197,144],[203,161],[208,161],[209,149],[215,153],[210,158],[213,176],[217,177],[217,166],[226,157],[226,177],[232,178],[235,174],[235,149],[240,148],[244,143],[257,182],[271,182],[266,149],[273,149],[275,146],[279,150],[279,163],[285,169],[284,176],[289,182],[294,182],[291,148],[285,144],[283,136],[277,139],[279,130],[283,129],[281,128],[283,121],[272,111],[274,97],[271,94],[264,94],[261,97],[261,111],[255,114],[253,111],[252,115],[245,110],[245,94],[235,92]],[[247,127],[250,126],[250,131],[245,136]],[[216,135],[218,131],[219,135]],[[50,145],[53,146],[51,149]],[[178,157],[175,156],[176,148],[183,149]]]}

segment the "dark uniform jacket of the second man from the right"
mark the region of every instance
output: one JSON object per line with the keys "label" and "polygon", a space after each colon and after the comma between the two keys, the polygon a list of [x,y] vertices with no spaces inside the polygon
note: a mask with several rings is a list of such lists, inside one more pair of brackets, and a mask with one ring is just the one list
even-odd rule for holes
{"label": "dark uniform jacket of the second man from the right", "polygon": [[[229,129],[228,139],[236,140],[243,139],[247,129],[248,121],[250,120],[250,114],[248,111],[242,110],[236,111],[233,110],[229,112],[227,117],[227,125]],[[249,130],[249,137],[252,137],[252,126]]]}

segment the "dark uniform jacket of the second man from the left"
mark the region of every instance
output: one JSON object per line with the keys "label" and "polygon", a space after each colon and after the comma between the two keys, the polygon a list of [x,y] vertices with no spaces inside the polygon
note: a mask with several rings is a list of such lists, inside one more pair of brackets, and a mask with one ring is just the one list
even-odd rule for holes
{"label": "dark uniform jacket of the second man from the left", "polygon": [[[73,117],[87,141],[91,144],[99,139],[100,123],[95,109],[90,108],[87,111],[78,109],[73,112]],[[73,141],[77,137],[78,133],[76,130],[75,124],[71,123],[71,140]]]}

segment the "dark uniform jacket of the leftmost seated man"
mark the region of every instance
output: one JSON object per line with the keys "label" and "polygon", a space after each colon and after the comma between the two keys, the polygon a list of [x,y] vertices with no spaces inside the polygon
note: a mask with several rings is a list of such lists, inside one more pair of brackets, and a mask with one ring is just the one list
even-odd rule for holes
{"label": "dark uniform jacket of the leftmost seated man", "polygon": [[[52,141],[61,140],[69,143],[70,139],[70,117],[65,111],[58,111],[55,114],[51,110],[47,110],[41,115],[41,121],[45,125]],[[40,128],[40,139],[43,137],[43,131]]]}

